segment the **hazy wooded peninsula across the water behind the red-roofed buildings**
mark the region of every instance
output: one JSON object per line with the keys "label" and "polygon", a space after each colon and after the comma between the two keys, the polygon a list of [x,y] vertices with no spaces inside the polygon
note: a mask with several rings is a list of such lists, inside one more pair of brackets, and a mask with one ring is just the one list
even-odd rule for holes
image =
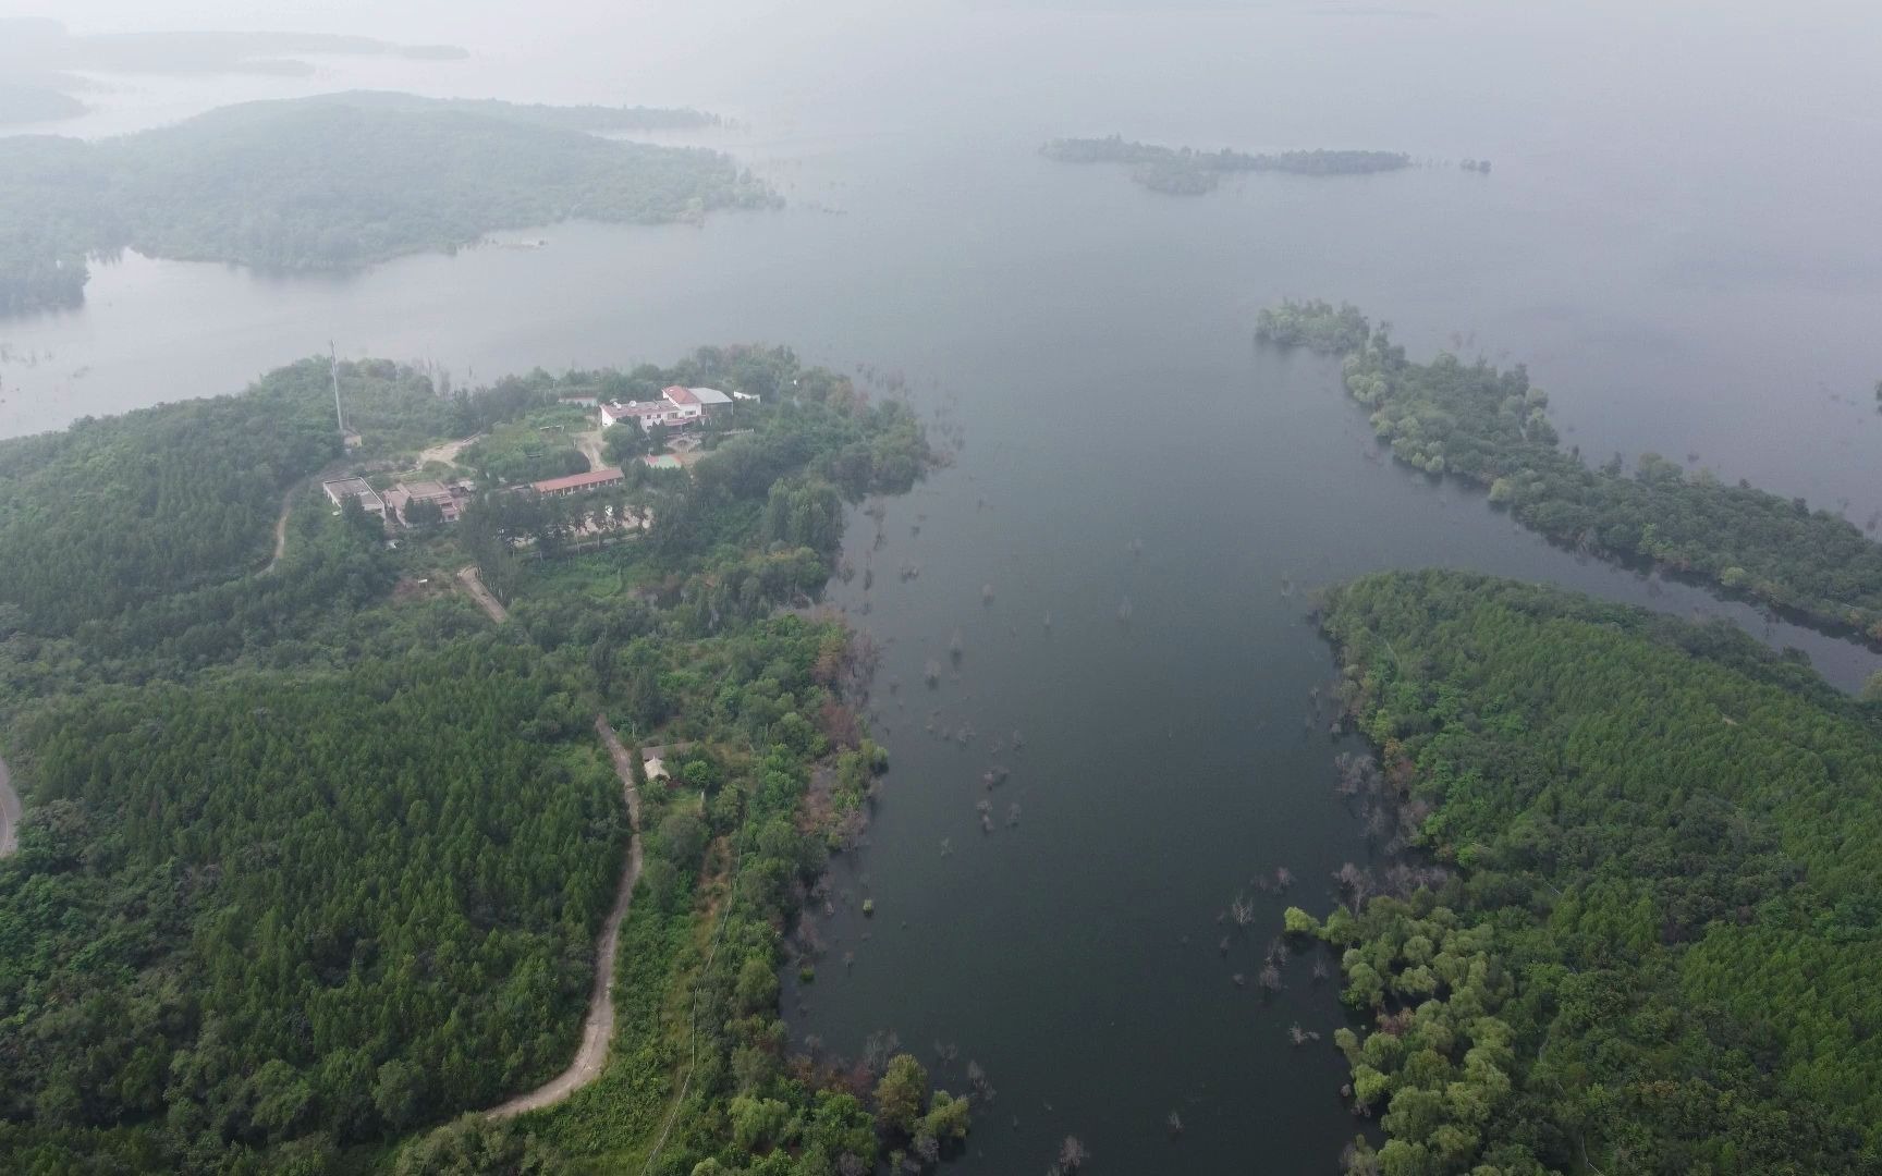
{"label": "hazy wooded peninsula across the water behind the red-roofed buildings", "polygon": [[346,269],[580,216],[696,220],[777,203],[715,151],[589,132],[698,111],[329,94],[224,107],[87,143],[0,139],[0,312],[83,301],[88,260]]}

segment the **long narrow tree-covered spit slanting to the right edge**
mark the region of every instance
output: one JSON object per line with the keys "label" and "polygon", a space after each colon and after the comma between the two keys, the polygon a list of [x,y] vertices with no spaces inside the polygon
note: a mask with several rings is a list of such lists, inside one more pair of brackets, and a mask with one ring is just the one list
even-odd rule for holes
{"label": "long narrow tree-covered spit slanting to the right edge", "polygon": [[1579,448],[1562,450],[1549,397],[1524,367],[1451,354],[1413,363],[1385,324],[1368,329],[1353,307],[1284,303],[1263,312],[1257,335],[1346,354],[1346,388],[1398,461],[1487,487],[1491,502],[1562,546],[1696,576],[1882,642],[1882,546],[1837,514],[1688,474],[1658,453],[1632,472],[1619,453],[1588,469]]}

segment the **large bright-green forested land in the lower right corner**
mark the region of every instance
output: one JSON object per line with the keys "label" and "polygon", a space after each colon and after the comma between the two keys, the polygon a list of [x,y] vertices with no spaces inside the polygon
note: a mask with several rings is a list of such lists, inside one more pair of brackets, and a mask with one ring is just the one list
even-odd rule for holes
{"label": "large bright-green forested land in the lower right corner", "polygon": [[1724,621],[1460,572],[1323,625],[1355,777],[1430,862],[1289,913],[1372,1016],[1351,1170],[1876,1170],[1882,704]]}

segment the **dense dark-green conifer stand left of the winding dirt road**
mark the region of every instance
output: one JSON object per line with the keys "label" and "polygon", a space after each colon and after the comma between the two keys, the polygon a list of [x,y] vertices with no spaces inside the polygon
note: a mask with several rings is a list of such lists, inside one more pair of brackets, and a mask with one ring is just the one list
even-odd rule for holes
{"label": "dense dark-green conifer stand left of the winding dirt road", "polygon": [[565,685],[480,638],[24,723],[0,1153],[307,1163],[561,1069],[621,845]]}

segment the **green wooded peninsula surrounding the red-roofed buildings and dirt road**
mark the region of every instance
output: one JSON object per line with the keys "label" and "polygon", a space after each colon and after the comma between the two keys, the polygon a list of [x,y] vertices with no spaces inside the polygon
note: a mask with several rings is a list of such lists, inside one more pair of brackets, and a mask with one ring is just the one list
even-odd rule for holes
{"label": "green wooded peninsula surrounding the red-roofed buildings and dirt road", "polygon": [[[625,465],[574,493],[455,465],[642,384],[751,399],[683,469],[615,425]],[[476,389],[309,359],[0,442],[9,1170],[832,1176],[958,1150],[965,1095],[909,1056],[802,1056],[777,1012],[886,766],[869,649],[811,606],[845,504],[935,459],[901,403],[751,346]],[[418,510],[437,484],[459,521]],[[412,499],[386,519],[380,491]],[[646,845],[614,1046],[568,1101],[489,1120],[574,1056],[627,845],[597,717]]]}

